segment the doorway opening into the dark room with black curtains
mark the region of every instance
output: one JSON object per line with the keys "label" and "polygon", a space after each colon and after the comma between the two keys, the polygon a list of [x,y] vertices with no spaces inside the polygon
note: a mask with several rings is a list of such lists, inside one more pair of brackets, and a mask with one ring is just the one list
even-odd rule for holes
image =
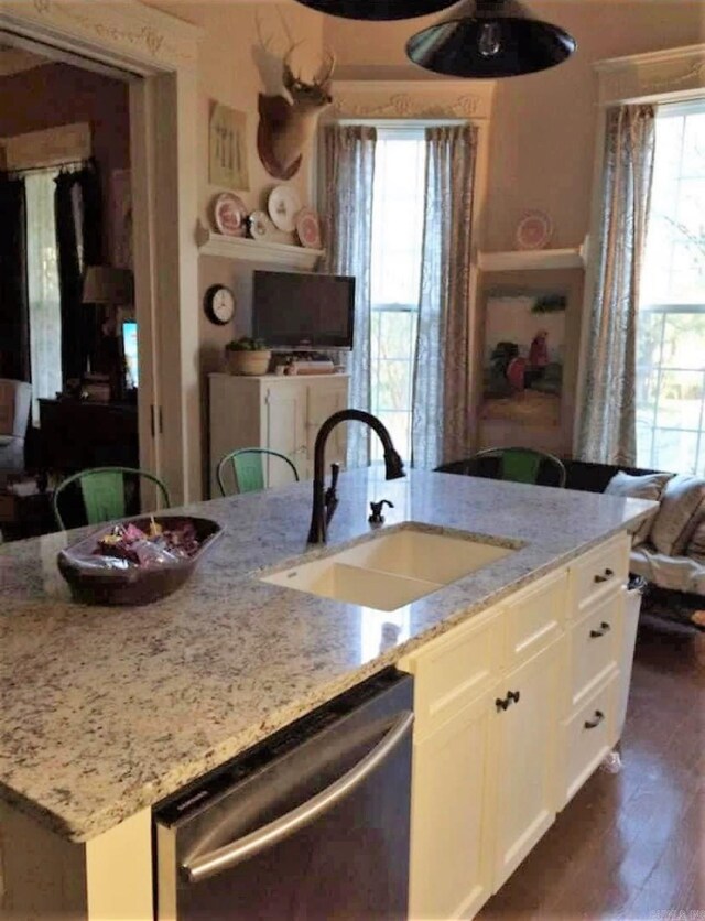
{"label": "doorway opening into the dark room with black curtains", "polygon": [[13,277],[0,285],[0,377],[32,387],[25,460],[42,477],[140,464],[134,79],[0,32],[0,180],[12,192],[0,217],[17,225],[0,251]]}

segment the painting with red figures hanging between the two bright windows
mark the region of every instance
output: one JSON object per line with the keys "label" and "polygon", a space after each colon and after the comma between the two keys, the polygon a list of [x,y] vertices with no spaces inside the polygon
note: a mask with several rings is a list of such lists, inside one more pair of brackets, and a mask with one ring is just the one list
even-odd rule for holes
{"label": "painting with red figures hanging between the two bright windows", "polygon": [[563,293],[488,295],[482,419],[560,425],[566,304]]}

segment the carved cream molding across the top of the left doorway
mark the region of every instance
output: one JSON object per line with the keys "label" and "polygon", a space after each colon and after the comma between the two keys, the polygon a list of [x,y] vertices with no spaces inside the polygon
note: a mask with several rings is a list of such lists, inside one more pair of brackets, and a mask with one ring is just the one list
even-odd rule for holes
{"label": "carved cream molding across the top of the left doorway", "polygon": [[202,30],[137,0],[119,3],[76,0],[1,0],[0,25],[20,32],[30,28],[68,51],[80,51],[82,41],[99,42],[121,57],[164,69],[196,68]]}

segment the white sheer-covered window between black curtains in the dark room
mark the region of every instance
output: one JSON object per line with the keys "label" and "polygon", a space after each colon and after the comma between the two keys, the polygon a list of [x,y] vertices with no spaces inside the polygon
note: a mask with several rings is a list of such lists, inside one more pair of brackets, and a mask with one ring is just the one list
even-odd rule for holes
{"label": "white sheer-covered window between black curtains in the dark room", "polygon": [[26,262],[30,302],[32,419],[39,422],[40,397],[62,390],[62,314],[56,260],[54,178],[56,170],[29,173]]}

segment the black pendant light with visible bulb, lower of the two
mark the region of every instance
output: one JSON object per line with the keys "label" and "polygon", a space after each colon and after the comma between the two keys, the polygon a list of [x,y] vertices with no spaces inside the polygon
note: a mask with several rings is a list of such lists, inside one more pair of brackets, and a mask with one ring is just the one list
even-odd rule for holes
{"label": "black pendant light with visible bulb, lower of the two", "polygon": [[576,46],[567,32],[534,19],[518,0],[468,0],[412,35],[406,54],[436,74],[496,79],[554,67]]}

